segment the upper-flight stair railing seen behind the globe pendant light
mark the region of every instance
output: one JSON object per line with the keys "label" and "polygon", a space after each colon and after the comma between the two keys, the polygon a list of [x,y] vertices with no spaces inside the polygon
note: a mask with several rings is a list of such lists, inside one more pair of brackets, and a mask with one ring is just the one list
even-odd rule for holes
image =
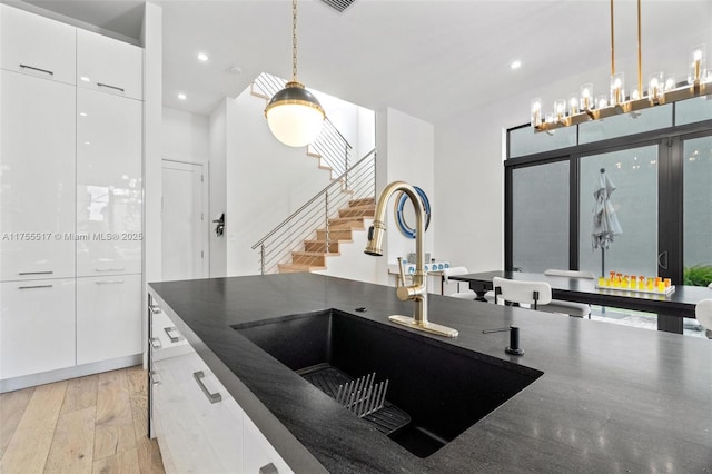
{"label": "upper-flight stair railing seen behind the globe pendant light", "polygon": [[[275,93],[284,89],[287,81],[276,76],[263,72],[253,82],[251,92],[269,100]],[[324,120],[320,134],[307,146],[307,152],[318,155],[322,162],[332,168],[332,179],[348,169],[353,147],[328,119]]]}

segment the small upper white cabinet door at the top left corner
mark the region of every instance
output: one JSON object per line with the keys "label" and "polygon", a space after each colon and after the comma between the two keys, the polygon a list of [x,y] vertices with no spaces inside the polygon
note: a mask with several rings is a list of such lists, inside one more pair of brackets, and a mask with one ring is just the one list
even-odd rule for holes
{"label": "small upper white cabinet door at the top left corner", "polygon": [[77,29],[0,4],[0,67],[76,83]]}

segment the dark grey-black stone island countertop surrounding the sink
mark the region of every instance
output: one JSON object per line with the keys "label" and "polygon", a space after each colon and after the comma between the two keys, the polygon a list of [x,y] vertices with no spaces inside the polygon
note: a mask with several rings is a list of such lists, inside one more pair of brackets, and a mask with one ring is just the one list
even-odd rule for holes
{"label": "dark grey-black stone island countertop surrounding the sink", "polygon": [[[459,336],[424,337],[544,375],[419,458],[230,327],[330,308],[390,325],[413,310],[394,288],[312,274],[149,287],[295,472],[712,473],[712,340],[431,295],[429,319]],[[482,334],[507,325],[524,356]]]}

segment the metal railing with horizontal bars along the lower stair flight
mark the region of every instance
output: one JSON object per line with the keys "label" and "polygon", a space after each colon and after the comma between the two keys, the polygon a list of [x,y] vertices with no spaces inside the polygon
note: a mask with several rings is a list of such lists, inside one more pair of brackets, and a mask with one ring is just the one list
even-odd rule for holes
{"label": "metal railing with horizontal bars along the lower stair flight", "polygon": [[330,237],[334,229],[329,220],[338,217],[339,209],[347,207],[350,200],[375,199],[375,196],[374,148],[253,245],[253,250],[259,248],[260,274],[276,273],[279,264],[288,263],[291,253],[299,250],[305,240],[315,238],[317,229],[326,234],[324,253],[328,254],[329,245],[335,241]]}

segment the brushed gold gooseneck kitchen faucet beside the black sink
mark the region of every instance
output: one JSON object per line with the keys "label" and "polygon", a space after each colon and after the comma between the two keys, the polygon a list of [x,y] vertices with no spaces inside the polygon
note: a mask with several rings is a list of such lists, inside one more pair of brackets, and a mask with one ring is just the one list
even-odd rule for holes
{"label": "brushed gold gooseneck kitchen faucet beside the black sink", "polygon": [[[386,210],[390,197],[396,192],[405,192],[415,209],[415,273],[413,274],[413,284],[406,286],[405,282],[400,282],[396,295],[403,302],[413,300],[413,317],[393,315],[388,319],[402,324],[414,329],[425,330],[427,333],[438,334],[441,336],[456,337],[457,330],[438,324],[429,323],[427,319],[427,273],[425,271],[425,209],[423,201],[415,188],[404,181],[393,181],[380,192],[376,203],[376,213],[374,214],[374,224],[368,229],[368,244],[364,250],[367,255],[383,255],[383,236],[386,231]],[[399,263],[399,265],[402,265]]]}

